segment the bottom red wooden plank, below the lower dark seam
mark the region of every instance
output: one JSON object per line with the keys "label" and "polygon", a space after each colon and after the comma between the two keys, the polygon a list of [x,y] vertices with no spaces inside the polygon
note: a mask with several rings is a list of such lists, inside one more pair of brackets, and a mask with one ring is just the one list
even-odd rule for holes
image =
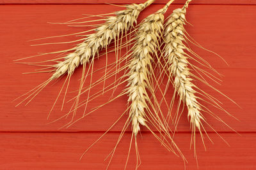
{"label": "bottom red wooden plank, below the lower dark seam", "polygon": [[[79,157],[100,134],[97,133],[1,133],[0,159],[2,169],[105,169],[109,159],[103,161],[115,146],[118,133],[107,134],[86,153]],[[138,138],[140,169],[182,169],[184,162],[168,152],[149,133]],[[255,169],[255,133],[237,136],[221,133],[230,147],[218,136],[209,134],[214,145],[205,140],[207,152],[202,143],[197,145],[199,169]],[[197,136],[199,137],[199,136]],[[116,150],[109,169],[123,169],[127,159],[131,134],[125,134]],[[190,134],[178,133],[175,141],[188,160],[186,169],[197,169],[193,150],[189,149]],[[134,141],[133,141],[134,142]],[[134,143],[133,143],[134,144]],[[136,155],[134,145],[127,169],[134,169]]]}

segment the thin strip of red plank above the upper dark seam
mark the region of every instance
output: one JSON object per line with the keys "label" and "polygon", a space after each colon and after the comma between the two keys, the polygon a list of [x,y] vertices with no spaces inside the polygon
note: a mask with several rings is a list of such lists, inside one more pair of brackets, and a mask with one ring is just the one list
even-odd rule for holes
{"label": "thin strip of red plank above the upper dark seam", "polygon": [[[144,3],[144,0],[138,0],[136,3]],[[156,1],[155,4],[164,4],[166,0]],[[113,3],[113,4],[131,4],[135,3],[135,1],[131,0],[0,0],[0,4],[104,4],[104,3]],[[173,4],[184,4],[185,0],[176,0]],[[196,0],[192,1],[191,4],[256,4],[255,1],[252,0]]]}

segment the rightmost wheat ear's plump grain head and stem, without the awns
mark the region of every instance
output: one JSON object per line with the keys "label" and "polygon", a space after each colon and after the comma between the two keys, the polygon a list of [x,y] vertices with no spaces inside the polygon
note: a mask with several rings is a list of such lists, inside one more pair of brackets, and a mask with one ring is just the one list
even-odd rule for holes
{"label": "rightmost wheat ear's plump grain head and stem, without the awns", "polygon": [[195,85],[192,83],[188,68],[188,56],[184,52],[184,24],[186,21],[186,8],[191,0],[187,1],[183,8],[173,11],[172,15],[166,22],[164,30],[164,57],[170,64],[168,67],[170,74],[175,78],[173,85],[180,96],[180,100],[186,103],[188,108],[188,118],[190,118],[191,127],[200,130],[202,117],[200,104],[197,101],[196,91],[193,89]]}

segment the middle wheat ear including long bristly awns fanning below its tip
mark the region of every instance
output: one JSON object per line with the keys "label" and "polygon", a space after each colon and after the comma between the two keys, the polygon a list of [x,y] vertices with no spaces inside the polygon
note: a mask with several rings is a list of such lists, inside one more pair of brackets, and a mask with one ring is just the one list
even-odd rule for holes
{"label": "middle wheat ear including long bristly awns fanning below its tip", "polygon": [[[138,160],[140,160],[140,155],[138,152],[138,145],[136,141],[136,137],[138,132],[140,131],[140,125],[143,125],[149,129],[150,132],[156,137],[156,139],[170,152],[175,153],[172,148],[172,145],[177,149],[180,153],[182,159],[184,159],[184,155],[180,152],[177,145],[174,143],[172,137],[169,134],[169,129],[166,127],[166,124],[161,121],[161,118],[158,116],[157,110],[150,101],[150,97],[148,96],[148,92],[152,92],[152,96],[154,96],[154,87],[152,82],[152,76],[154,76],[154,71],[152,68],[152,63],[154,60],[154,55],[157,57],[157,51],[159,50],[159,40],[163,34],[163,22],[164,22],[164,13],[170,6],[170,4],[174,0],[169,1],[164,8],[158,10],[156,13],[149,15],[147,18],[141,22],[140,27],[138,27],[138,32],[135,38],[135,44],[132,47],[132,56],[131,61],[129,63],[129,73],[127,73],[127,89],[126,92],[129,96],[128,102],[131,103],[129,105],[129,118],[132,124],[132,138],[134,136],[135,140],[135,148],[136,148],[136,157],[137,164],[136,169],[140,164],[138,164]],[[156,98],[154,97],[154,101],[157,103]],[[150,106],[154,113],[150,110]],[[147,111],[147,113],[146,113]],[[127,120],[127,121],[128,121]],[[160,132],[161,137],[159,138],[151,129],[148,127],[147,122],[156,127],[157,131]],[[126,123],[125,123],[126,125]],[[162,135],[164,133],[164,136]],[[123,132],[120,134],[120,138],[122,138]],[[172,142],[172,145],[169,143],[168,139]],[[116,143],[116,145],[119,143]],[[115,150],[115,148],[114,148]],[[131,150],[131,143],[129,147],[128,157],[125,164],[127,166],[127,162],[129,159],[129,153]],[[175,153],[177,155],[177,153]]]}

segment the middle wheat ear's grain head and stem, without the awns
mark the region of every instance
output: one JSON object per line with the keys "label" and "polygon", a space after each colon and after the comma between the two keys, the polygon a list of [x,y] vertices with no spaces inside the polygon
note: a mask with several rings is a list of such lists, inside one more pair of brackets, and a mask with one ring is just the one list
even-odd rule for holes
{"label": "middle wheat ear's grain head and stem, without the awns", "polygon": [[132,122],[132,131],[137,136],[140,125],[146,125],[147,103],[150,101],[147,90],[150,89],[150,75],[152,73],[153,55],[156,55],[159,47],[158,41],[163,31],[164,13],[170,1],[164,8],[149,15],[141,22],[136,36],[136,43],[133,46],[132,59],[128,73],[128,101],[131,102],[129,118]]}

